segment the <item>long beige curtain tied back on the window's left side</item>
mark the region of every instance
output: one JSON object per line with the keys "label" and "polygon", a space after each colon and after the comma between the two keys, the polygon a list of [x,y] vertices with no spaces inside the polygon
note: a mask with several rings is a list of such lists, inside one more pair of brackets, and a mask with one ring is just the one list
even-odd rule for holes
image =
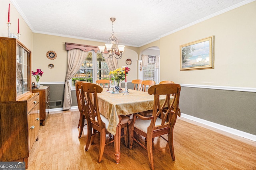
{"label": "long beige curtain tied back on the window's left side", "polygon": [[72,49],[68,51],[68,68],[65,79],[63,110],[70,109],[72,105],[71,88],[68,80],[76,74],[87,55],[88,52],[80,49]]}

